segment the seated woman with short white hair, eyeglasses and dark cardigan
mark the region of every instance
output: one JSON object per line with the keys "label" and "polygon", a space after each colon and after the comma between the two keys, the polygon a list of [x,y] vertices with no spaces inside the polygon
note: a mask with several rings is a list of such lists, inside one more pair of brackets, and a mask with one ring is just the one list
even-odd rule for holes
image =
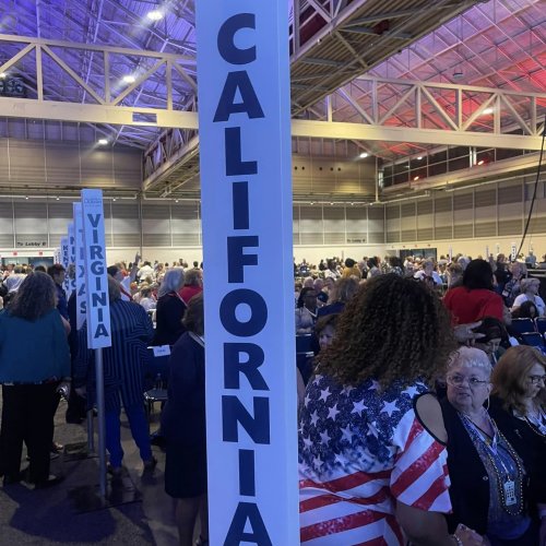
{"label": "seated woman with short white hair, eyeglasses and dark cardigan", "polygon": [[460,347],[448,367],[441,403],[453,507],[448,525],[467,525],[491,546],[543,546],[529,460],[484,405],[490,376],[487,355],[474,347]]}

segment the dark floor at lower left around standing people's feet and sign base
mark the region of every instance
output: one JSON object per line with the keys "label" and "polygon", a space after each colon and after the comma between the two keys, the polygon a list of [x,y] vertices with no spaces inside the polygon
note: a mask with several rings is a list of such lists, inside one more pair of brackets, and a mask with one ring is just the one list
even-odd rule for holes
{"label": "dark floor at lower left around standing people's feet and sign base", "polygon": [[[0,394],[1,401],[1,394]],[[63,444],[86,441],[86,426],[64,423],[66,402],[56,416],[55,440]],[[157,410],[158,412],[158,405]],[[152,430],[158,414],[152,416]],[[96,420],[96,419],[95,419]],[[51,462],[51,473],[66,479],[51,488],[33,490],[25,484],[0,487],[0,545],[157,545],[177,546],[174,501],[164,491],[164,453],[154,448],[158,464],[151,475],[142,474],[138,448],[122,415],[123,464],[141,500],[86,513],[75,513],[71,495],[80,486],[98,490],[98,459],[66,461],[63,455]],[[96,443],[95,443],[96,444]],[[26,466],[23,454],[22,468]],[[131,484],[132,482],[132,484]],[[119,486],[118,486],[119,487]]]}

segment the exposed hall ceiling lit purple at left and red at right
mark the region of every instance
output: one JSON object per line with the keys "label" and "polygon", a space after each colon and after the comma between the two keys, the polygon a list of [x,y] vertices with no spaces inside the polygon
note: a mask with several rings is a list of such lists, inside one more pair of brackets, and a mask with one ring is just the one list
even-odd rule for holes
{"label": "exposed hall ceiling lit purple at left and red at right", "polygon": [[[140,108],[144,122],[82,122],[80,138],[143,150],[149,195],[195,194],[197,131],[145,122],[150,109],[195,110],[194,1],[3,0],[0,82],[20,78],[27,98]],[[518,134],[533,116],[536,126],[546,112],[546,0],[293,0],[287,8],[295,119],[367,123],[375,103],[379,114],[389,114],[387,124],[413,127],[420,114],[417,94],[401,100],[405,81],[522,93],[506,107],[510,122],[518,121],[513,127],[500,112],[476,115],[475,131],[505,123]],[[25,37],[44,46],[33,48]],[[4,74],[2,66],[8,66]],[[538,98],[530,98],[532,93]],[[446,126],[453,97],[440,91],[436,107],[419,105],[427,127]],[[462,100],[465,116],[485,100],[486,94],[468,91]],[[73,122],[43,124],[47,131],[29,130],[23,119],[0,119],[0,138],[10,131],[59,140],[74,134],[67,130]],[[340,147],[333,141],[324,145],[327,140],[296,136],[294,151],[331,154]],[[385,165],[438,150],[427,143],[363,140],[341,147],[346,158],[366,152]]]}

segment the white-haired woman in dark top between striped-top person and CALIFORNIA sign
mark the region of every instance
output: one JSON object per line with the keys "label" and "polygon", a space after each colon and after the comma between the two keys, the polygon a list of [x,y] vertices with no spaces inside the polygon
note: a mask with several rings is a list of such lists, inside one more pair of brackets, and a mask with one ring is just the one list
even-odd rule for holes
{"label": "white-haired woman in dark top between striped-top person and CALIFORNIA sign", "polygon": [[186,304],[178,295],[182,286],[183,270],[181,268],[173,268],[165,273],[157,293],[156,328],[152,345],[174,345],[186,332],[182,324]]}

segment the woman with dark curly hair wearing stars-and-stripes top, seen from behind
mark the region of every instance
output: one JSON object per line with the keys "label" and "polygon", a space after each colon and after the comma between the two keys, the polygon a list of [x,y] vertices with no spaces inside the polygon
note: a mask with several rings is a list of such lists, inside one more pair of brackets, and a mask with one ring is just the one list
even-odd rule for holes
{"label": "woman with dark curly hair wearing stars-and-stripes top, seen from behind", "polygon": [[423,283],[381,275],[347,302],[300,415],[301,544],[482,544],[442,515],[447,436],[427,384],[454,347]]}

